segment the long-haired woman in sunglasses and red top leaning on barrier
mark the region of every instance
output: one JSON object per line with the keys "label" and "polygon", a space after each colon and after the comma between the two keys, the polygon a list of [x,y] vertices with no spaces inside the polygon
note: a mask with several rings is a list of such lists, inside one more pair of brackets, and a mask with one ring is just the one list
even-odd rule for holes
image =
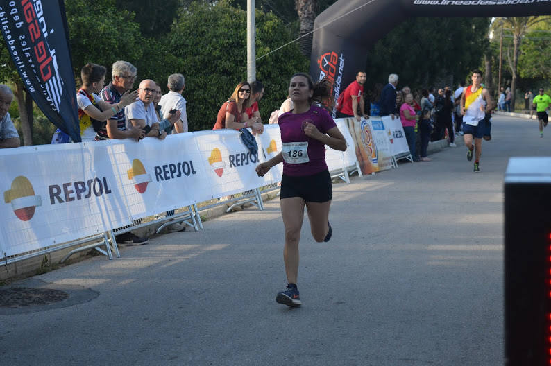
{"label": "long-haired woman in sunglasses and red top leaning on barrier", "polygon": [[214,123],[212,130],[220,130],[222,128],[252,128],[255,132],[262,130],[262,123],[247,124],[247,121],[241,122],[241,114],[245,112],[247,107],[251,105],[251,85],[246,81],[241,81],[233,90],[230,99],[223,103],[218,111],[217,123]]}

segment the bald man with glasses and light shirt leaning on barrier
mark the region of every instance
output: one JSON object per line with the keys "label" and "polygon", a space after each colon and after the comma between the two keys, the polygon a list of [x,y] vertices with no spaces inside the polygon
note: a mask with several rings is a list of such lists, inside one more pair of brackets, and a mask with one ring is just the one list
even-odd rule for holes
{"label": "bald man with glasses and light shirt leaning on barrier", "polygon": [[138,128],[146,131],[146,137],[163,140],[167,137],[167,132],[160,130],[159,118],[153,105],[153,99],[157,94],[156,87],[153,80],[142,80],[139,83],[138,100],[124,108],[124,116],[127,130]]}

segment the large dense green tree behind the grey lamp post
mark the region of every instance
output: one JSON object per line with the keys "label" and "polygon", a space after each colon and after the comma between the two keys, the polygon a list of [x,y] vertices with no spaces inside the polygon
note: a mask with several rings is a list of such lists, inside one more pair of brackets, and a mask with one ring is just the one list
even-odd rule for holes
{"label": "large dense green tree behind the grey lamp post", "polygon": [[[256,25],[257,57],[291,40],[285,24],[272,13],[258,11]],[[246,80],[246,12],[227,1],[213,6],[194,2],[180,12],[166,40],[167,53],[182,61],[181,69],[173,72],[186,78],[189,130],[212,128],[220,106]],[[307,64],[296,44],[257,62],[257,80],[266,89],[261,103],[264,121],[285,100],[289,77],[307,71]]]}

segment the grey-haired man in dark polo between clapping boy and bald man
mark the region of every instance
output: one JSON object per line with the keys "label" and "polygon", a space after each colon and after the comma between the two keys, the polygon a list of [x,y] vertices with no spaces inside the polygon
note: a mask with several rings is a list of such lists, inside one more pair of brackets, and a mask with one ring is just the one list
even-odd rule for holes
{"label": "grey-haired man in dark polo between clapping boy and bald man", "polygon": [[[101,100],[109,104],[117,104],[121,101],[123,94],[135,94],[136,92],[128,93],[128,91],[134,85],[136,73],[137,69],[130,62],[115,62],[111,70],[112,80],[99,94]],[[98,131],[96,140],[128,138],[139,140],[144,137],[144,134],[145,132],[139,128],[126,129],[124,108],[122,108],[117,114],[108,119],[107,123],[101,128],[101,131]]]}

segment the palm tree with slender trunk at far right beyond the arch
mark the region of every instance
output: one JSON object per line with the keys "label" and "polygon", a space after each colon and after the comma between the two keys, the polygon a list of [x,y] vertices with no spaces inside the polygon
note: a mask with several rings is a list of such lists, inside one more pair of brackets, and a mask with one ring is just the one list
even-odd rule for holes
{"label": "palm tree with slender trunk at far right beyond the arch", "polygon": [[501,26],[504,30],[509,30],[513,36],[513,55],[511,57],[511,49],[507,49],[507,63],[511,69],[511,110],[515,110],[515,89],[516,79],[518,77],[518,53],[520,53],[520,44],[523,42],[523,37],[532,26],[541,21],[548,21],[551,17],[499,17],[493,21],[492,28],[497,31]]}

